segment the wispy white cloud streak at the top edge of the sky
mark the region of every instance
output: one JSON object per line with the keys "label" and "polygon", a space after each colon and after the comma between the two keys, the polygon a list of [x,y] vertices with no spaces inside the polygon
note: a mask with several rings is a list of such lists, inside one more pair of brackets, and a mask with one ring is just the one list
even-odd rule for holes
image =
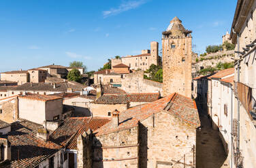
{"label": "wispy white cloud streak at the top edge of the sky", "polygon": [[130,9],[135,9],[137,7],[140,7],[140,5],[143,5],[144,3],[146,3],[146,0],[124,1],[117,8],[111,8],[107,11],[103,11],[103,18],[108,18],[109,16],[114,16]]}

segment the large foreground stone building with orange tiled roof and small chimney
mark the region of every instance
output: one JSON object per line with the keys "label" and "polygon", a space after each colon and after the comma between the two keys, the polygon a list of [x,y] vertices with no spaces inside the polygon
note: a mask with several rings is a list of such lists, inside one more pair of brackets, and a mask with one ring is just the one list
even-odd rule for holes
{"label": "large foreground stone building with orange tiled roof and small chimney", "polygon": [[195,102],[173,93],[114,110],[112,120],[78,138],[78,167],[195,167]]}

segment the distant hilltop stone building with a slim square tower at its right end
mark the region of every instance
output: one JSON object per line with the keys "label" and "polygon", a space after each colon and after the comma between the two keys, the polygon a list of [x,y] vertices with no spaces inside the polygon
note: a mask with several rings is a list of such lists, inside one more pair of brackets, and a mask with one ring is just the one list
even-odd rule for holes
{"label": "distant hilltop stone building with a slim square tower at its right end", "polygon": [[125,56],[120,59],[111,60],[111,68],[117,64],[125,64],[130,67],[131,70],[147,70],[151,64],[161,64],[161,57],[159,57],[159,43],[152,41],[150,43],[150,49],[142,49],[142,54],[136,56]]}

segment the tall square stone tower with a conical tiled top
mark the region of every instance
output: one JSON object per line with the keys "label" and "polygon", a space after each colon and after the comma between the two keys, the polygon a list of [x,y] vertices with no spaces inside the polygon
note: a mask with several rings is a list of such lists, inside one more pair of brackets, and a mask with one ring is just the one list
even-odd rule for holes
{"label": "tall square stone tower with a conical tiled top", "polygon": [[178,92],[191,98],[191,33],[177,17],[163,32],[163,96]]}

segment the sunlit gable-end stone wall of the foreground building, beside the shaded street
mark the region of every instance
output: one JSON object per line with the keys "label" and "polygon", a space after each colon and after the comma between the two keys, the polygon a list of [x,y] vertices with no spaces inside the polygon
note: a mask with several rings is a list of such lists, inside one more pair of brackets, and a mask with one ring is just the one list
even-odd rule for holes
{"label": "sunlit gable-end stone wall of the foreground building, beside the shaded street", "polygon": [[140,167],[195,167],[196,129],[159,112],[140,125]]}

